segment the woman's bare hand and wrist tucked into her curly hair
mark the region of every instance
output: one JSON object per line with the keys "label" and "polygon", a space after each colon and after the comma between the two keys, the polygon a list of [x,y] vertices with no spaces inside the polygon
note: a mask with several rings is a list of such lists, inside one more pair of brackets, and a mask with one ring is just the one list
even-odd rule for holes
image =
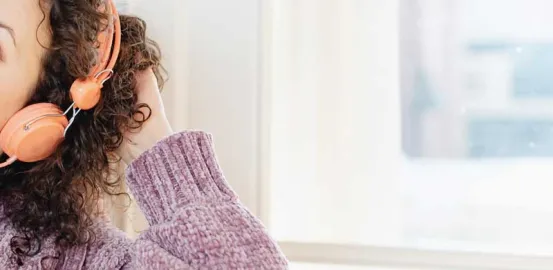
{"label": "woman's bare hand and wrist tucked into her curly hair", "polygon": [[[127,165],[158,141],[173,134],[165,115],[156,76],[151,69],[137,74],[135,91],[138,95],[138,103],[147,104],[151,113],[148,112],[148,108],[141,108],[144,116],[147,117],[150,114],[150,118],[143,123],[140,129],[124,131],[125,140],[118,150],[118,154]],[[135,119],[139,120],[140,117],[137,115]]]}

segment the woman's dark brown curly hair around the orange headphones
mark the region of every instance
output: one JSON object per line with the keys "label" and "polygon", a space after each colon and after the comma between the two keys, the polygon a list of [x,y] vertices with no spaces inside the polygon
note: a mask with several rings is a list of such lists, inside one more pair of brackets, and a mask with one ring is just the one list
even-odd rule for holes
{"label": "woman's dark brown curly hair around the orange headphones", "polygon": [[[46,48],[41,79],[29,104],[70,106],[72,82],[87,76],[96,63],[96,38],[106,27],[102,22],[107,15],[97,9],[103,1],[39,0],[43,23],[50,23],[52,43]],[[117,193],[119,177],[108,175],[110,164],[118,162],[114,152],[124,140],[122,131],[140,128],[148,118],[139,110],[147,105],[137,104],[135,74],[152,68],[162,84],[165,73],[157,44],[146,37],[146,23],[133,16],[120,19],[121,52],[100,104],[78,115],[65,141],[48,159],[0,170],[0,202],[9,206],[3,207],[4,214],[18,231],[11,239],[16,258],[38,254],[49,237],[55,237],[59,246],[93,241],[90,202],[102,193],[124,194]]]}

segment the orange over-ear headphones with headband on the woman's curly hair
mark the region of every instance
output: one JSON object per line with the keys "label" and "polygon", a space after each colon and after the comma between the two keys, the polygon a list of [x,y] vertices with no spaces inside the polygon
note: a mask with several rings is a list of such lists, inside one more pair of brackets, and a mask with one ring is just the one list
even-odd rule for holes
{"label": "orange over-ear headphones with headband on the woman's curly hair", "polygon": [[[81,110],[94,108],[100,101],[102,85],[113,75],[113,67],[121,45],[121,22],[113,0],[105,0],[100,11],[111,16],[108,27],[98,35],[98,63],[86,78],[71,85],[73,104],[65,111],[51,103],[27,106],[12,116],[0,130],[0,148],[9,159],[0,168],[15,161],[36,162],[44,160],[63,141],[67,130]],[[68,113],[72,111],[71,118]]]}

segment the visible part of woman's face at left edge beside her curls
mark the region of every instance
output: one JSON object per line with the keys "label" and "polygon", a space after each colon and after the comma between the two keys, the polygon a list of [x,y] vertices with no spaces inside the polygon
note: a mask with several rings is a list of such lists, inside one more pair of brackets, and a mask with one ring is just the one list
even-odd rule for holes
{"label": "visible part of woman's face at left edge beside her curls", "polygon": [[[0,0],[0,128],[30,98],[40,76],[48,21],[36,0]],[[40,25],[40,27],[39,27]],[[37,31],[38,28],[38,31]]]}

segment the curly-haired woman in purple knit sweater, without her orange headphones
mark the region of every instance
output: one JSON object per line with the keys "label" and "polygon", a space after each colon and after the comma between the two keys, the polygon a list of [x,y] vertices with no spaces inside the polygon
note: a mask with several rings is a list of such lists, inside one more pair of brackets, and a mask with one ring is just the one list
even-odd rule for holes
{"label": "curly-haired woman in purple knit sweater, without her orange headphones", "polygon": [[[71,85],[99,58],[107,2],[0,0],[0,134],[26,106],[71,107]],[[211,137],[171,130],[144,23],[120,23],[119,58],[99,103],[74,115],[53,154],[0,169],[0,268],[286,268],[225,182]],[[109,179],[118,162],[130,164],[127,183],[150,225],[134,242],[96,207],[101,194],[117,195],[119,181]]]}

